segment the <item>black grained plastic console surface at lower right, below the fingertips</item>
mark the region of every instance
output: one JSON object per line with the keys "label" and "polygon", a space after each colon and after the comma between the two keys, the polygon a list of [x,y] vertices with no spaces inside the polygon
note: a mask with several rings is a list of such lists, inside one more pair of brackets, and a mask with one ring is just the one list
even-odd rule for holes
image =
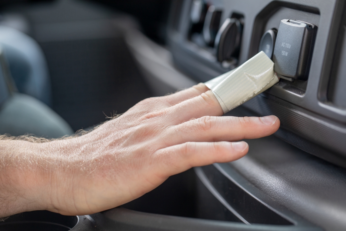
{"label": "black grained plastic console surface at lower right, below the fingertips", "polygon": [[[245,109],[235,110],[237,112],[231,111],[229,115],[249,115]],[[299,150],[273,135],[246,142],[249,152],[245,157],[220,166],[231,167],[255,188],[325,230],[344,230],[344,168]]]}

